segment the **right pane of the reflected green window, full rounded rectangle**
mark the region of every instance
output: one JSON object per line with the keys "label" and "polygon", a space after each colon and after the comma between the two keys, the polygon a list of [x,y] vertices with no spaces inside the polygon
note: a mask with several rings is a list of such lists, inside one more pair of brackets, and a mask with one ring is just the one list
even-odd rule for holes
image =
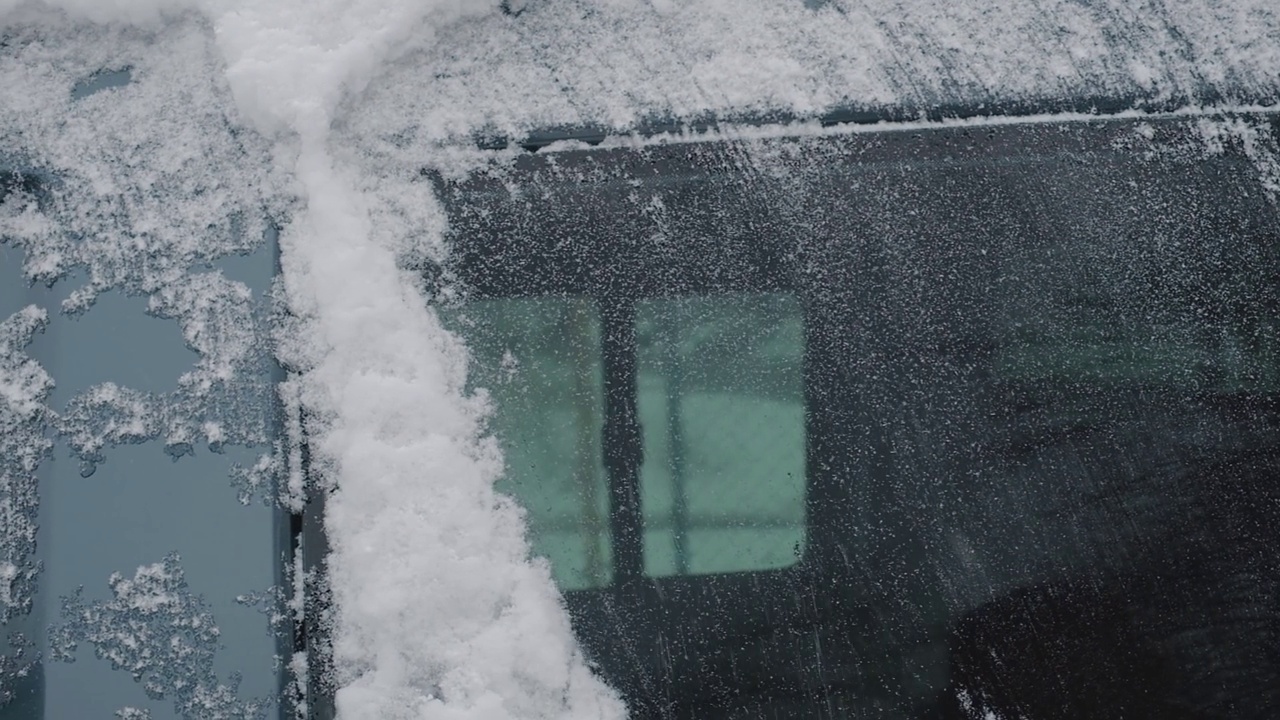
{"label": "right pane of the reflected green window, full rounded rectangle", "polygon": [[799,302],[644,301],[636,341],[645,574],[794,564],[805,538]]}

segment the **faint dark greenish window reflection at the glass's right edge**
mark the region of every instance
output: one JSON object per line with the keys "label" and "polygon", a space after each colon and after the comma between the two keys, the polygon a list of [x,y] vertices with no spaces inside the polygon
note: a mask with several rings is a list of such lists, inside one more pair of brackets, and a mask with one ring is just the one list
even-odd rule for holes
{"label": "faint dark greenish window reflection at the glass's right edge", "polygon": [[1280,386],[1280,327],[1256,269],[1266,247],[1161,256],[1135,240],[1116,268],[1089,261],[1097,245],[1046,243],[1005,264],[997,377],[1216,393]]}

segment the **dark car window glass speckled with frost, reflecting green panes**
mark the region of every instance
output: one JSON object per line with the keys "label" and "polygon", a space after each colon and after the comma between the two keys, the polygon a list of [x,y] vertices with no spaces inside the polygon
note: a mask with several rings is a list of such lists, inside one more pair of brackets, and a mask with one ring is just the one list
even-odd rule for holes
{"label": "dark car window glass speckled with frost, reflecting green panes", "polygon": [[543,151],[440,182],[448,314],[637,717],[1262,717],[1268,182],[1183,119]]}

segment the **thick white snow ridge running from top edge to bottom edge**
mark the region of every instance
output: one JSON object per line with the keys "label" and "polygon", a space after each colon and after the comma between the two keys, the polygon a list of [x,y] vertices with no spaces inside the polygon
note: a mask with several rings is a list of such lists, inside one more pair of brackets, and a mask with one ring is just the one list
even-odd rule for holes
{"label": "thick white snow ridge running from top edge to bottom edge", "polygon": [[339,101],[406,38],[489,10],[276,3],[214,20],[241,109],[293,152],[306,204],[280,234],[282,268],[308,338],[298,398],[314,466],[333,488],[344,719],[623,715],[576,650],[545,565],[529,561],[520,511],[493,492],[502,464],[479,441],[483,407],[463,397],[462,346],[397,266],[365,183],[330,146]]}

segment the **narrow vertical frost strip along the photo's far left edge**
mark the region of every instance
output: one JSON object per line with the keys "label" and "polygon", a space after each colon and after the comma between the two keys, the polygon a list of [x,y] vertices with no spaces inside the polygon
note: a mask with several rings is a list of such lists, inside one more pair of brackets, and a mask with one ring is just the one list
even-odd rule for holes
{"label": "narrow vertical frost strip along the photo's far left edge", "polygon": [[[31,612],[40,577],[36,468],[50,450],[45,402],[54,382],[24,348],[46,322],[33,305],[0,322],[0,629]],[[27,638],[15,634],[9,644],[12,653],[0,655],[0,707],[9,700],[4,682],[26,674],[32,660]]]}

